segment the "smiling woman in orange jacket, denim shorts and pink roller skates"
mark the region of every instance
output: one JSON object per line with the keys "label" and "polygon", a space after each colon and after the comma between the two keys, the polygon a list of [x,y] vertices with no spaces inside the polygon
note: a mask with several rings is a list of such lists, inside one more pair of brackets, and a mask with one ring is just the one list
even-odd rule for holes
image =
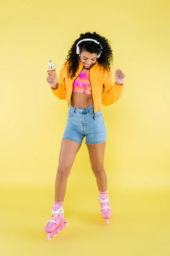
{"label": "smiling woman in orange jacket, denim shorts and pink roller skates", "polygon": [[[68,107],[70,105],[59,154],[52,218],[45,227],[49,234],[54,230],[54,236],[67,224],[63,221],[66,184],[84,137],[99,189],[102,216],[107,224],[111,216],[104,169],[107,130],[100,105],[107,106],[116,102],[122,95],[125,80],[125,74],[117,69],[114,74],[116,81],[112,84],[112,61],[113,54],[108,40],[96,32],[87,32],[74,42],[58,78],[55,73],[54,82],[47,71],[46,81],[54,95],[66,99]],[[52,236],[52,233],[49,234],[48,238]]]}

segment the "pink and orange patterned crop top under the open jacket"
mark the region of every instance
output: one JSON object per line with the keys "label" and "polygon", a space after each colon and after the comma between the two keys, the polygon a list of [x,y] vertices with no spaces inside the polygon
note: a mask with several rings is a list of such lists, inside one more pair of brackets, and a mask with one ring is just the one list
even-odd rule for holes
{"label": "pink and orange patterned crop top under the open jacket", "polygon": [[73,83],[73,92],[92,94],[89,70],[81,72]]}

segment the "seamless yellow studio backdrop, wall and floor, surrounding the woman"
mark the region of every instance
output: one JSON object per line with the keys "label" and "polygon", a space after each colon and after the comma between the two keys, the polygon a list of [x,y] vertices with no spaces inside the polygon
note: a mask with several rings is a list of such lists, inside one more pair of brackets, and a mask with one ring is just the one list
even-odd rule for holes
{"label": "seamless yellow studio backdrop, wall and floor, surrounding the woman", "polygon": [[[3,255],[170,255],[169,1],[19,1],[0,7],[0,240]],[[51,241],[54,182],[68,106],[46,83],[80,33],[111,41],[121,99],[101,106],[112,217],[101,218],[83,145],[68,179],[68,227]]]}

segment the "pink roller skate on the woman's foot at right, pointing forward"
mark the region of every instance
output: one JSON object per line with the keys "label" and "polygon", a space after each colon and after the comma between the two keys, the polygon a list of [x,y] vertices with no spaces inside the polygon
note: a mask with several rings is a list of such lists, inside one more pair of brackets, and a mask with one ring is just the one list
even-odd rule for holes
{"label": "pink roller skate on the woman's foot at right, pointing forward", "polygon": [[100,211],[102,212],[102,217],[105,218],[105,222],[109,224],[109,217],[111,217],[111,206],[108,194],[99,195],[99,204],[101,206]]}

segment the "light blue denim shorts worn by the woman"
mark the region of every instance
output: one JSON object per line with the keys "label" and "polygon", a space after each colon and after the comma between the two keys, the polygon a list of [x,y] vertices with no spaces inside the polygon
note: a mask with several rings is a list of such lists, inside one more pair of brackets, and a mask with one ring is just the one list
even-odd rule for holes
{"label": "light blue denim shorts worn by the woman", "polygon": [[[63,139],[82,144],[86,136],[86,144],[99,144],[107,140],[107,129],[102,111],[93,113],[94,107],[74,108],[70,105]],[[94,117],[94,118],[93,118]],[[94,120],[95,119],[95,120]]]}

